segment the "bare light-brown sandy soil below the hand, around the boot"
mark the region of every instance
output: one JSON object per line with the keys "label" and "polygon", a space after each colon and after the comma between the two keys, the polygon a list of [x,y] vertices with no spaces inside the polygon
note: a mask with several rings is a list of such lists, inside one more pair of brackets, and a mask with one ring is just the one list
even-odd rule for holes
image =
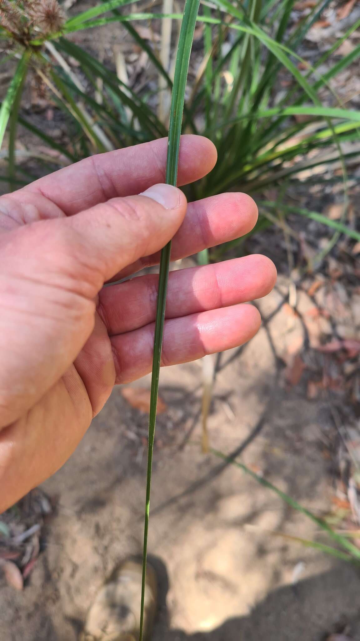
{"label": "bare light-brown sandy soil below the hand, around the boot", "polygon": [[[308,401],[302,385],[284,387],[282,359],[304,335],[300,317],[279,308],[285,293],[280,279],[259,301],[257,337],[220,357],[210,438],[321,513],[332,493],[323,440],[334,428],[326,403]],[[300,310],[308,306],[300,294]],[[152,485],[149,549],[161,588],[154,640],[321,641],[344,621],[359,639],[357,571],[268,533],[320,537],[240,469],[200,452],[200,373],[197,362],[161,373],[168,411],[158,420]],[[2,641],[75,641],[104,579],[140,553],[146,423],[117,388],[44,484],[59,497],[58,513],[24,592],[1,584]]]}

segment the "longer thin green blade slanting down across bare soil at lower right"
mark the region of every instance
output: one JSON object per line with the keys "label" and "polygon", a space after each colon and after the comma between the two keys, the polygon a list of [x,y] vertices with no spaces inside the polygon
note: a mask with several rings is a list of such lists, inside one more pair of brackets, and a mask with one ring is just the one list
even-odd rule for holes
{"label": "longer thin green blade slanting down across bare soil at lower right", "polygon": [[352,554],[354,558],[356,558],[357,561],[360,562],[360,549],[356,547],[356,545],[350,543],[346,537],[341,537],[340,534],[334,532],[334,530],[331,529],[326,521],[316,517],[315,514],[310,512],[310,510],[307,510],[307,508],[304,508],[304,506],[300,505],[300,503],[291,498],[291,496],[289,496],[285,492],[282,492],[282,490],[279,490],[279,488],[275,487],[275,485],[272,485],[272,483],[270,483],[269,481],[266,481],[265,478],[259,476],[258,474],[256,474],[256,472],[250,470],[249,467],[244,465],[244,463],[239,463],[238,461],[234,460],[234,458],[231,458],[231,456],[226,456],[226,454],[223,454],[216,449],[211,449],[210,451],[212,454],[215,454],[215,456],[218,456],[218,458],[222,458],[228,463],[231,463],[231,465],[239,467],[241,470],[243,470],[243,472],[245,472],[245,474],[249,474],[249,476],[252,476],[252,478],[258,481],[260,485],[263,485],[263,487],[267,487],[269,490],[272,490],[272,492],[275,492],[275,494],[277,494],[282,499],[282,501],[290,505],[291,508],[297,510],[297,512],[302,512],[303,514],[305,514],[323,531],[325,531],[329,535],[329,537],[332,538],[332,540],[334,540],[338,545],[341,545],[343,549],[346,549],[350,554]]}

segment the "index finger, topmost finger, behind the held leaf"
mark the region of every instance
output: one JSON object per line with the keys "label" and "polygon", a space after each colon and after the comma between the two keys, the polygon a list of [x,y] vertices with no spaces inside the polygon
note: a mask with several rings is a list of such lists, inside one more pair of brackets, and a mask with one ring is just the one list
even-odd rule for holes
{"label": "index finger, topmost finger, behind the held leaf", "polygon": [[[135,147],[97,154],[40,178],[20,189],[40,193],[66,215],[81,212],[111,198],[135,196],[151,185],[165,182],[167,138]],[[178,185],[206,176],[217,162],[217,150],[208,138],[181,137]]]}

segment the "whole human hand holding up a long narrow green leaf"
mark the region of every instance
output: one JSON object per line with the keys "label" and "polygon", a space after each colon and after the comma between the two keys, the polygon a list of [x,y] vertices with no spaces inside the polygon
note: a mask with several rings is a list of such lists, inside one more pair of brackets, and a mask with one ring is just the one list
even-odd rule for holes
{"label": "whole human hand holding up a long narrow green leaf", "polygon": [[[0,198],[0,512],[63,465],[115,383],[151,370],[157,277],[104,283],[157,263],[172,237],[175,260],[256,222],[245,194],[187,205],[152,187],[166,156],[166,139],[92,156]],[[179,184],[215,162],[211,142],[184,136]],[[275,278],[264,256],[170,274],[163,365],[249,340],[259,313],[241,303]]]}

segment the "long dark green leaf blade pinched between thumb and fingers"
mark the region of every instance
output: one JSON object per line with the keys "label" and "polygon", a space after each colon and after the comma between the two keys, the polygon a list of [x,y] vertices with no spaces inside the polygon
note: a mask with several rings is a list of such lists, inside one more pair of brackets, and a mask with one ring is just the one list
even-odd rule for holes
{"label": "long dark green leaf blade pinched between thumb and fingers", "polygon": [[[190,52],[192,49],[193,32],[199,11],[200,0],[186,0],[184,7],[183,22],[179,37],[179,46],[177,48],[176,67],[174,74],[174,84],[172,88],[172,99],[170,108],[170,126],[168,133],[168,156],[167,156],[167,173],[166,182],[168,185],[176,185],[177,167],[179,164],[179,149],[181,124],[183,122],[184,97],[186,89],[186,79],[188,76],[188,67],[190,61]],[[154,435],[156,424],[156,408],[158,404],[161,348],[163,343],[163,331],[165,323],[165,306],[167,297],[168,270],[170,264],[171,242],[161,251],[158,302],[156,306],[156,322],[154,334],[154,356],[152,360],[152,377],[151,377],[151,404],[149,414],[149,445],[147,455],[147,483],[146,483],[146,500],[145,500],[145,523],[143,535],[143,570],[142,570],[142,600],[140,611],[140,641],[143,638],[143,610],[145,599],[145,580],[146,580],[146,560],[147,560],[147,537],[149,533],[149,511],[150,511],[150,492],[151,492],[151,470],[152,470],[152,453],[154,449]]]}

